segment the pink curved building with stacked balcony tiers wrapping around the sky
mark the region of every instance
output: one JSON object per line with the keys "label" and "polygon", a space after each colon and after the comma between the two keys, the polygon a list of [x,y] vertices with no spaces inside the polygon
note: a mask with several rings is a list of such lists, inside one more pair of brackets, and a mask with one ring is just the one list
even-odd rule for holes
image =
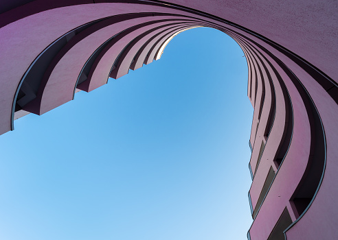
{"label": "pink curved building with stacked balcony tiers wrapping around the sky", "polygon": [[179,32],[213,27],[236,40],[249,69],[248,238],[335,239],[337,8],[329,0],[3,1],[0,134],[158,60]]}

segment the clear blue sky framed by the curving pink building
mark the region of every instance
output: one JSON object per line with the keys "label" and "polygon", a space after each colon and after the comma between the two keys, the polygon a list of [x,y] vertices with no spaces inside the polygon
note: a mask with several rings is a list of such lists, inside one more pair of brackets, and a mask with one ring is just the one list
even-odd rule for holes
{"label": "clear blue sky framed by the curving pink building", "polygon": [[247,239],[247,62],[215,29],[0,136],[0,239]]}

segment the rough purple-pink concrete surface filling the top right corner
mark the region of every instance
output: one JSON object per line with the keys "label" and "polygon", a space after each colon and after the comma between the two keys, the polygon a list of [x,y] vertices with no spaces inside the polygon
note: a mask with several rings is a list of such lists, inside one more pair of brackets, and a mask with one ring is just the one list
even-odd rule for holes
{"label": "rough purple-pink concrete surface filling the top right corner", "polygon": [[[109,1],[95,1],[95,3],[105,2]],[[338,55],[336,40],[338,3],[335,0],[324,2],[315,0],[282,2],[278,0],[168,0],[166,2],[206,12],[257,32],[308,60],[337,82],[337,68],[335,62],[332,61]],[[1,14],[3,16],[0,17],[0,23],[5,25],[43,10],[85,3],[93,3],[93,1],[33,1],[27,6]],[[133,5],[134,9],[135,5]],[[151,7],[148,5],[148,8]],[[311,51],[304,49],[304,45],[312,46]]]}

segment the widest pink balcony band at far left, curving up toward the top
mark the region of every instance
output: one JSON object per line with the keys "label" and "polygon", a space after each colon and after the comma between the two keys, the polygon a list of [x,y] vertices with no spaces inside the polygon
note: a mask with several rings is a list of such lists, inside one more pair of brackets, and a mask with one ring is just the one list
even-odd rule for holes
{"label": "widest pink balcony band at far left, curving up toward the top", "polygon": [[[39,12],[1,27],[0,71],[7,72],[6,79],[8,81],[4,82],[3,87],[0,88],[0,102],[2,103],[0,105],[0,112],[2,113],[0,133],[3,134],[11,130],[12,102],[21,77],[43,49],[71,29],[104,17],[135,12],[166,12],[168,14],[195,16],[180,10],[159,6],[139,4],[133,5],[133,8],[130,8],[130,6],[127,3],[73,5]],[[21,8],[24,8],[24,6]],[[14,10],[20,12],[21,8]],[[12,14],[15,13],[14,10]],[[200,19],[206,20],[207,18],[201,17]],[[25,36],[25,42],[22,42],[23,36]],[[26,49],[30,49],[30,51],[26,51]],[[16,61],[8,61],[8,56],[12,56]],[[47,110],[48,108],[45,111]]]}

